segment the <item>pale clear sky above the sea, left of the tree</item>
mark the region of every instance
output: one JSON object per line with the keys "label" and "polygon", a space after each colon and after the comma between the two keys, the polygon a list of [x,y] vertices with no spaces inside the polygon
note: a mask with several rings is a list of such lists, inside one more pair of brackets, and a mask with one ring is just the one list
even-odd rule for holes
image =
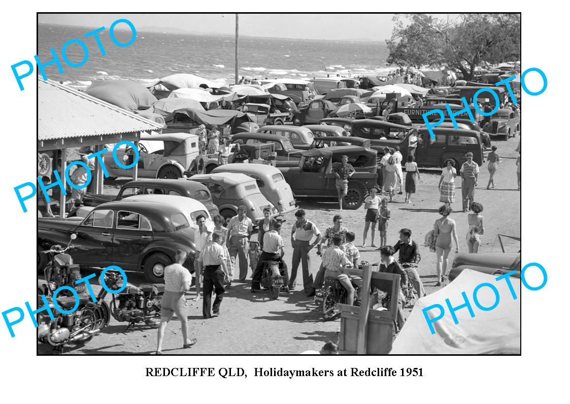
{"label": "pale clear sky above the sea, left of the tree", "polygon": [[[272,38],[374,40],[390,38],[393,14],[239,14],[239,34]],[[126,18],[135,27],[174,27],[196,34],[235,34],[234,14],[39,14],[46,24],[104,26]]]}

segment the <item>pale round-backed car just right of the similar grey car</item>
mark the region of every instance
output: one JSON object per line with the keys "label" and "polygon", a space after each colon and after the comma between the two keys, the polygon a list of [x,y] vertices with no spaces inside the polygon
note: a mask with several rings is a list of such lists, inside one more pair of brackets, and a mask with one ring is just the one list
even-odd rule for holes
{"label": "pale round-backed car just right of the similar grey car", "polygon": [[224,164],[212,171],[215,173],[241,173],[257,181],[257,186],[280,214],[297,209],[291,187],[278,168],[264,164]]}

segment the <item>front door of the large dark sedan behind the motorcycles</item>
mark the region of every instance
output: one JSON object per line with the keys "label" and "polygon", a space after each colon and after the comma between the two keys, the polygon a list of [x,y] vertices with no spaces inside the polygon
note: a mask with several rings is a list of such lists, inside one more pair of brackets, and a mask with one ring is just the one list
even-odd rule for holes
{"label": "front door of the large dark sedan behind the motorcycles", "polygon": [[93,210],[75,229],[77,239],[73,258],[76,264],[107,267],[113,264],[113,220],[110,209]]}

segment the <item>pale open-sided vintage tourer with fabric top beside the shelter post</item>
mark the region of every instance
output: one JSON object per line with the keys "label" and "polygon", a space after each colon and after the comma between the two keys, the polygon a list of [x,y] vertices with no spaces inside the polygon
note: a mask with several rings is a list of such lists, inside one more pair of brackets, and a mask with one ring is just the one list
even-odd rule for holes
{"label": "pale open-sided vintage tourer with fabric top beside the shelter post", "polygon": [[[134,161],[130,146],[123,144],[117,149],[117,159],[123,161],[127,155],[128,164]],[[189,133],[141,134],[139,141],[139,177],[181,178],[191,170],[198,156],[198,136]],[[127,164],[127,165],[128,165]],[[105,159],[109,177],[132,177],[133,169],[122,169],[113,158]]]}

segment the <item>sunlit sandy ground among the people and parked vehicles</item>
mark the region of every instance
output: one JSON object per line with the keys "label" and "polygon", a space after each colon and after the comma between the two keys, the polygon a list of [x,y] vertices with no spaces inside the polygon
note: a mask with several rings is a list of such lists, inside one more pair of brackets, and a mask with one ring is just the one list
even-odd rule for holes
{"label": "sunlit sandy ground among the people and parked vehicles", "polygon": [[[498,172],[495,174],[495,189],[486,190],[489,173],[487,163],[481,167],[475,201],[483,204],[485,234],[480,252],[500,252],[496,239],[497,234],[520,236],[520,192],[516,183],[516,157],[514,150],[519,138],[511,138],[508,142],[493,141],[498,146],[499,156],[503,158]],[[427,293],[436,290],[435,254],[423,246],[424,236],[435,219],[439,218],[437,209],[439,202],[437,184],[441,170],[421,170],[422,181],[417,183],[417,193],[412,197],[412,204],[404,203],[405,195],[396,195],[396,200],[389,204],[392,218],[389,221],[388,240],[390,244],[398,240],[398,230],[408,227],[412,230],[412,238],[420,244],[422,260],[418,272],[424,282]],[[116,194],[125,180],[120,179],[105,185],[105,193]],[[459,251],[467,252],[466,232],[467,213],[461,212],[461,181],[456,182],[456,202],[451,214],[458,228]],[[332,226],[332,217],[337,213],[337,204],[332,201],[300,201],[300,207],[307,211],[307,217],[315,222],[324,232]],[[291,268],[292,248],[290,246],[291,226],[294,215],[286,217],[282,235],[286,245],[285,259]],[[359,210],[343,212],[344,226],[355,232],[356,246],[362,244],[364,228],[364,207]],[[370,243],[370,239],[368,239]],[[378,243],[378,239],[377,239]],[[507,242],[507,252],[515,252],[520,244]],[[361,260],[378,262],[380,254],[373,248],[360,248]],[[450,263],[455,254],[451,252]],[[320,258],[316,248],[310,253],[310,271],[316,274]],[[237,271],[236,271],[237,272]],[[251,275],[251,270],[248,277]],[[141,274],[129,272],[131,283],[144,281]],[[234,283],[233,288],[225,293],[221,305],[221,314],[213,319],[202,319],[202,300],[194,302],[194,290],[187,295],[189,305],[190,336],[198,342],[192,348],[182,349],[180,321],[170,321],[165,333],[163,353],[165,354],[296,354],[304,350],[319,350],[329,340],[336,340],[336,331],[340,328],[340,320],[325,322],[318,312],[312,311],[312,299],[302,291],[302,274],[299,268],[296,291],[291,295],[281,295],[278,300],[270,300],[267,292],[250,293],[250,284]],[[162,287],[162,285],[160,285]],[[99,287],[95,287],[98,291]],[[108,296],[107,299],[110,299]],[[410,308],[406,309],[407,312]],[[66,348],[68,354],[149,354],[156,349],[156,329],[146,325],[137,325],[134,332],[125,332],[126,323],[118,323],[111,319],[111,324],[101,334],[83,346]],[[238,342],[239,341],[239,342]],[[50,346],[38,345],[38,353],[50,354]]]}

